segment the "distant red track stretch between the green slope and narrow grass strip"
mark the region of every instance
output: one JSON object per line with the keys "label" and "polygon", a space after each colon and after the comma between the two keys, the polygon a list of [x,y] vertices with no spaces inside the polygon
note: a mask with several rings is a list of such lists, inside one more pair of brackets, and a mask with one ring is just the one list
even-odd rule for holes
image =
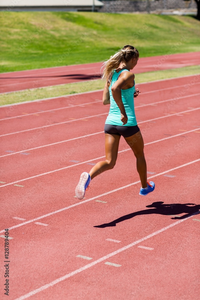
{"label": "distant red track stretch between the green slope and narrow grass strip", "polygon": [[[200,52],[139,58],[134,73],[198,65]],[[100,78],[102,62],[0,74],[0,93]]]}

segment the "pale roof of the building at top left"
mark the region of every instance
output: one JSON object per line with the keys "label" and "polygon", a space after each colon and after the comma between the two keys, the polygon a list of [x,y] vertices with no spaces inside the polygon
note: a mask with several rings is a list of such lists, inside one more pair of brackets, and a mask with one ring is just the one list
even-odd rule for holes
{"label": "pale roof of the building at top left", "polygon": [[[17,2],[17,3],[16,3]],[[68,6],[68,7],[88,7],[93,5],[93,0],[1,0],[0,7],[40,7],[40,6]],[[101,7],[103,3],[99,0],[94,0],[94,5]]]}

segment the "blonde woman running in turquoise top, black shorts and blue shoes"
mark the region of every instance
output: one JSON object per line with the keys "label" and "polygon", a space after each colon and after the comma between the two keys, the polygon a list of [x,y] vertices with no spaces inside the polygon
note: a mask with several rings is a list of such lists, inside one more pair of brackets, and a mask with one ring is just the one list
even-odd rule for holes
{"label": "blonde woman running in turquoise top, black shorts and blue shoes", "polygon": [[104,127],[106,160],[99,161],[89,173],[81,174],[75,189],[79,199],[83,199],[85,190],[94,177],[115,166],[121,135],[136,157],[136,167],[142,184],[139,195],[146,196],[155,188],[154,182],[147,182],[144,142],[134,111],[133,98],[137,97],[140,91],[135,89],[135,75],[130,70],[136,66],[138,58],[138,50],[126,45],[103,64],[105,68],[102,79],[106,79],[103,104],[110,104]]}

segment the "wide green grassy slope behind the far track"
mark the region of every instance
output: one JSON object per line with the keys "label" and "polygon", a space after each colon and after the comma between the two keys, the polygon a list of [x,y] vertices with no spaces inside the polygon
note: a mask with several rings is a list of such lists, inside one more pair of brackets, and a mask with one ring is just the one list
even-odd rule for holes
{"label": "wide green grassy slope behind the far track", "polygon": [[0,72],[103,61],[126,44],[140,57],[200,51],[190,16],[0,12]]}

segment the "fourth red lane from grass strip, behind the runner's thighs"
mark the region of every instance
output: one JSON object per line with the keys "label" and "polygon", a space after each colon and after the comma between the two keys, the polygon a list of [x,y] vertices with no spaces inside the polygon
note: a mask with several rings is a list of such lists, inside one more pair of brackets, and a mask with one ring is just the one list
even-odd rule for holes
{"label": "fourth red lane from grass strip, behind the runner's thighs", "polygon": [[[192,114],[193,113],[193,114]],[[197,111],[191,111],[190,115],[182,115],[178,118],[177,115],[173,115],[170,118],[171,122],[181,122],[181,120],[184,120],[184,122],[187,122],[188,118],[193,117],[196,119],[196,116],[198,116],[198,110]],[[169,116],[169,115],[167,115]],[[166,116],[166,118],[167,118]],[[167,118],[169,119],[169,118]],[[174,119],[174,120],[173,120]],[[158,121],[160,121],[158,123]],[[147,132],[152,130],[151,134],[149,134],[148,141],[152,140],[158,140],[159,138],[163,138],[162,133],[162,126],[167,126],[169,129],[167,132],[171,133],[171,122],[163,122],[163,119],[157,120],[156,123],[148,123],[146,121],[144,124],[144,131],[145,127],[147,128]],[[138,122],[139,124],[140,122]],[[142,122],[141,122],[142,123]],[[165,125],[166,124],[166,125]],[[139,124],[140,126],[140,124]],[[181,127],[179,126],[179,129]],[[176,130],[176,134],[180,134],[181,131]],[[153,131],[154,130],[154,131]],[[196,128],[190,127],[190,130],[197,130]],[[142,132],[142,127],[141,127]],[[154,132],[157,132],[157,138],[155,139]],[[182,133],[184,135],[184,131]],[[144,137],[145,138],[145,137]],[[99,147],[99,140],[102,140],[102,147]],[[104,133],[95,134],[93,136],[88,136],[82,139],[70,140],[67,143],[61,143],[56,144],[53,146],[50,146],[50,152],[47,155],[48,148],[39,148],[33,150],[31,153],[28,152],[27,155],[17,154],[11,155],[8,157],[1,158],[1,160],[4,161],[2,163],[2,166],[5,166],[2,168],[3,176],[1,178],[1,181],[3,182],[15,182],[16,178],[29,178],[33,174],[42,174],[45,172],[48,172],[46,170],[46,166],[48,166],[48,169],[55,170],[62,168],[63,164],[70,164],[73,165],[73,163],[70,163],[71,160],[76,161],[87,161],[91,159],[91,150],[96,153],[96,157],[102,156],[102,148],[104,147]],[[90,144],[90,149],[88,149],[88,143]],[[125,143],[124,143],[125,144]],[[98,145],[98,146],[97,146]],[[125,148],[128,148],[127,146]],[[104,150],[103,150],[104,152]],[[27,152],[22,152],[27,153]],[[80,153],[83,153],[80,155]],[[84,154],[85,153],[85,154]],[[12,166],[15,165],[15,169],[13,170]],[[55,167],[56,166],[56,167]],[[10,170],[10,171],[9,171]],[[2,185],[2,184],[1,184]]]}

